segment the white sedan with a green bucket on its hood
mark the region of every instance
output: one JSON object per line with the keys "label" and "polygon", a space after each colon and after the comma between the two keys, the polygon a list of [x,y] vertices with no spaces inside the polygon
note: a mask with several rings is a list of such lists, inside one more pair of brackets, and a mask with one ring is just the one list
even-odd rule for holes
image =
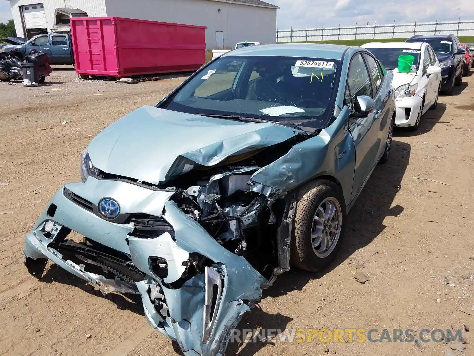
{"label": "white sedan with a green bucket on its hood", "polygon": [[[441,68],[433,48],[428,43],[416,42],[371,42],[362,47],[393,73],[392,88],[397,106],[395,124],[418,130],[421,116],[428,109],[435,109],[438,103]],[[401,55],[415,57],[409,73],[402,73],[397,68]]]}

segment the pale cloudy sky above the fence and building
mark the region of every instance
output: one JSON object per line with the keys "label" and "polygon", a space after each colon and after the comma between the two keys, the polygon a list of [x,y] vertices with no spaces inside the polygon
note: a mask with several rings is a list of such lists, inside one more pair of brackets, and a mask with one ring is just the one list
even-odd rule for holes
{"label": "pale cloudy sky above the fence and building", "polygon": [[[474,19],[473,0],[267,0],[281,7],[278,28],[354,26],[414,21]],[[0,0],[0,22],[11,19],[9,1]]]}

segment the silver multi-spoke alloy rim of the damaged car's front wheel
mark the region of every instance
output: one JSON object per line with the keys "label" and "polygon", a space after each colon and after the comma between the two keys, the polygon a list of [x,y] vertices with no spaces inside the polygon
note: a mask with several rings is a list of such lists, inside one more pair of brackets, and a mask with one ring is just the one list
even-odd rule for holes
{"label": "silver multi-spoke alloy rim of the damaged car's front wheel", "polygon": [[319,258],[334,251],[342,229],[342,210],[334,197],[327,197],[316,209],[311,226],[313,252]]}

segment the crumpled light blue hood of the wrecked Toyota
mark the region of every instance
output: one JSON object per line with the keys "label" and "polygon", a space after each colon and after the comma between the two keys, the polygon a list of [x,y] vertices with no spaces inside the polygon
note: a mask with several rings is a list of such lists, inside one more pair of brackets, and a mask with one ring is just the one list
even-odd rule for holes
{"label": "crumpled light blue hood of the wrecked Toyota", "polygon": [[[160,184],[195,164],[213,166],[229,156],[275,145],[299,130],[143,106],[100,132],[89,145],[95,167],[109,174]],[[180,171],[178,171],[180,170]],[[171,173],[171,172],[170,172]]]}

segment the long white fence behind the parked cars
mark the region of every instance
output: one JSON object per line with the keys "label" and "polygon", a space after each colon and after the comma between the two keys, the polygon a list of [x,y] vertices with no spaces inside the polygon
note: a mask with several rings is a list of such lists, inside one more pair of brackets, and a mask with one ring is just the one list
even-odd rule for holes
{"label": "long white fence behind the parked cars", "polygon": [[408,38],[414,35],[474,36],[474,20],[419,22],[289,29],[276,31],[276,42],[334,41],[340,39]]}

